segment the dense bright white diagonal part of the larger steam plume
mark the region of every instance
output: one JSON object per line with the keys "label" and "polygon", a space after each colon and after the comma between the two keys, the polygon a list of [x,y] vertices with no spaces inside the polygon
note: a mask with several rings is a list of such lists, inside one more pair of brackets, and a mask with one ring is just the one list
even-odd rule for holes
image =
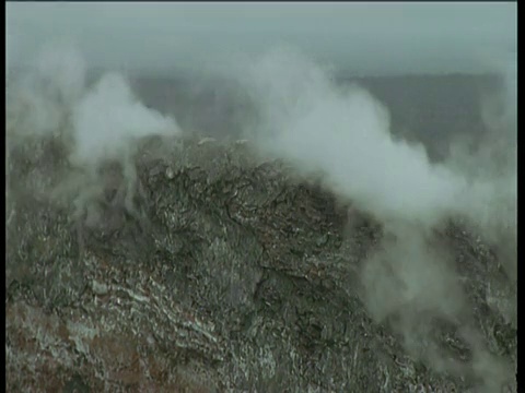
{"label": "dense bright white diagonal part of the larger steam plume", "polygon": [[394,141],[389,115],[365,90],[337,88],[301,55],[280,49],[249,68],[261,106],[253,136],[305,172],[323,170],[336,191],[386,218],[424,221],[456,207],[466,179],[431,165],[422,145]]}

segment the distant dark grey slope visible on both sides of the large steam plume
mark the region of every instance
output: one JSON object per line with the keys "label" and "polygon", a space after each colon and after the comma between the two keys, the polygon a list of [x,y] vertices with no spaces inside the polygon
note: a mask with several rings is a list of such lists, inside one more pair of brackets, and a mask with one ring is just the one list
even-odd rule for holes
{"label": "distant dark grey slope visible on both sides of the large steam plume", "polygon": [[[458,135],[481,135],[481,98],[498,79],[493,75],[411,75],[341,79],[358,82],[392,115],[396,135],[422,142],[432,159],[447,155]],[[149,106],[172,112],[183,128],[213,136],[240,136],[249,118],[249,102],[223,80],[190,81],[137,76],[133,87]]]}

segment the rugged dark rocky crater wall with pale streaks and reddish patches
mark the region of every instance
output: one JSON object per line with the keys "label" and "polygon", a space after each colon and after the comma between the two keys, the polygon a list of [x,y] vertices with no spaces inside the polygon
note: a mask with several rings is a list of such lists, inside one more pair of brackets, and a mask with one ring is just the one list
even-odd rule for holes
{"label": "rugged dark rocky crater wall with pale streaks and reddish patches", "polygon": [[144,141],[136,156],[137,214],[107,167],[98,216],[75,219],[70,201],[35,192],[63,176],[63,146],[10,146],[8,392],[511,391],[516,326],[500,311],[512,285],[460,223],[435,238],[455,254],[480,340],[510,367],[488,365],[486,380],[467,366],[460,326],[436,320],[430,332],[465,365],[453,376],[369,317],[359,272],[382,224],[351,201],[246,142],[162,144]]}

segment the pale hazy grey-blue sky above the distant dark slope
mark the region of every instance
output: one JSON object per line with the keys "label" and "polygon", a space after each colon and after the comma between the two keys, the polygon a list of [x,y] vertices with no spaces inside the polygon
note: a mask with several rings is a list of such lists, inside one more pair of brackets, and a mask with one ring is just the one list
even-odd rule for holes
{"label": "pale hazy grey-blue sky above the distant dark slope", "polygon": [[485,71],[517,50],[515,2],[7,4],[8,64],[74,41],[90,66],[170,70],[290,44],[357,73]]}

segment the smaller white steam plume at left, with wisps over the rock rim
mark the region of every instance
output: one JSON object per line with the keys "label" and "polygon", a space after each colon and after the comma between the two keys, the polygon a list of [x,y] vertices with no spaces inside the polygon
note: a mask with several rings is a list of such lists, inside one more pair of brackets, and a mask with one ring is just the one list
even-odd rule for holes
{"label": "smaller white steam plume at left, with wisps over the rock rim", "polygon": [[[113,203],[133,210],[138,142],[180,134],[175,119],[143,106],[121,74],[105,73],[88,86],[83,58],[72,47],[46,47],[8,93],[8,143],[24,146],[39,138],[60,145],[70,170],[52,187],[35,191],[72,199],[77,216],[93,210],[108,181],[117,189]],[[119,168],[113,180],[108,165]]]}

